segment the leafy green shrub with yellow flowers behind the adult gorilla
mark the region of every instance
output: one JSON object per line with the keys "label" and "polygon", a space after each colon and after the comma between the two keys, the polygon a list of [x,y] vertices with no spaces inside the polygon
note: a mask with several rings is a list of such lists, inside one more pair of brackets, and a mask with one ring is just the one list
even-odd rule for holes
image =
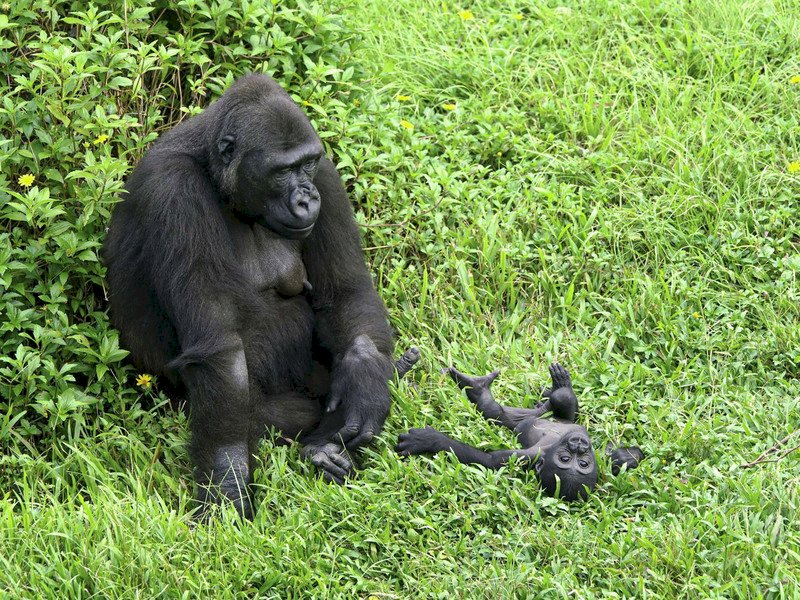
{"label": "leafy green shrub with yellow flowers behind the adult gorilla", "polygon": [[252,71],[276,77],[336,142],[360,75],[336,11],[302,0],[2,10],[0,446],[36,454],[142,414],[99,251],[150,143]]}

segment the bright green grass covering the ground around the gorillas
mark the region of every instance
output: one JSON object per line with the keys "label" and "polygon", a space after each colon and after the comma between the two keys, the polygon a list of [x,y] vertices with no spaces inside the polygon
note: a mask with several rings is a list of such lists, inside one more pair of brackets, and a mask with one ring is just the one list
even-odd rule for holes
{"label": "bright green grass covering the ground around the gorillas", "polygon": [[[347,14],[375,93],[337,160],[415,385],[346,486],[265,443],[252,524],[192,525],[166,406],[15,450],[0,595],[797,597],[800,452],[740,465],[800,428],[800,2]],[[530,405],[555,359],[596,449],[648,455],[585,504],[515,465],[392,452],[423,425],[510,447],[439,369],[501,368],[497,396]]]}

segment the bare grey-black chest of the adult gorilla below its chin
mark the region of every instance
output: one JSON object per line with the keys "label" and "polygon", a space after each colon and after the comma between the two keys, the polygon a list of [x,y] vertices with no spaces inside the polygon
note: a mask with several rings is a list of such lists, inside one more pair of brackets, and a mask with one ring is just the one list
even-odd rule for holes
{"label": "bare grey-black chest of the adult gorilla below its chin", "polygon": [[253,288],[274,289],[284,297],[302,293],[306,269],[300,240],[283,239],[260,225],[247,227],[244,235],[232,237],[236,240],[236,258]]}

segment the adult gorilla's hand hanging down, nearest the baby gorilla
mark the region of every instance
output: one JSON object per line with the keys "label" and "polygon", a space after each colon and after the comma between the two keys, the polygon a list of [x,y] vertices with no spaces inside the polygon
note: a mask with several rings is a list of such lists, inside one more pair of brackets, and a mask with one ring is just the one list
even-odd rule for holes
{"label": "adult gorilla's hand hanging down, nearest the baby gorilla", "polygon": [[327,412],[343,411],[344,426],[331,437],[348,449],[368,444],[389,414],[392,361],[372,340],[359,335],[333,369]]}

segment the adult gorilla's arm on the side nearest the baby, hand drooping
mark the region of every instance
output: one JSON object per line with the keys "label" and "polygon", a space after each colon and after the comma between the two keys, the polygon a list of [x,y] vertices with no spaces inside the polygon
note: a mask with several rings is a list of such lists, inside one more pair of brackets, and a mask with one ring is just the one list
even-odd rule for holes
{"label": "adult gorilla's arm on the side nearest the baby, hand drooping", "polygon": [[304,249],[316,334],[333,357],[327,410],[343,411],[330,439],[367,444],[389,413],[392,332],[372,284],[350,202],[333,164],[323,158],[314,180],[322,206]]}

